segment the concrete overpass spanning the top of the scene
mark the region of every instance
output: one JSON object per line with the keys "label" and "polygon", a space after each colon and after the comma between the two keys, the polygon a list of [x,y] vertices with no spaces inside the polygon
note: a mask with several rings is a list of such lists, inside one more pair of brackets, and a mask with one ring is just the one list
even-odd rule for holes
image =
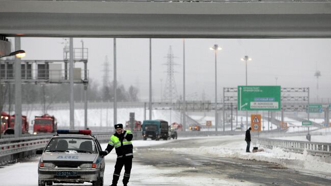
{"label": "concrete overpass spanning the top of the scene", "polygon": [[328,1],[218,1],[0,0],[0,34],[152,38],[331,37],[331,2]]}

